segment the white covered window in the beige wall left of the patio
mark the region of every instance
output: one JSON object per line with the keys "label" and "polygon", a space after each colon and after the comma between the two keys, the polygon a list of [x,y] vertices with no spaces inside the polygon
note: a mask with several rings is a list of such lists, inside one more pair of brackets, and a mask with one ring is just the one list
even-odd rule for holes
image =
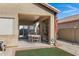
{"label": "white covered window in the beige wall left of the patio", "polygon": [[13,34],[13,19],[0,18],[0,35]]}

